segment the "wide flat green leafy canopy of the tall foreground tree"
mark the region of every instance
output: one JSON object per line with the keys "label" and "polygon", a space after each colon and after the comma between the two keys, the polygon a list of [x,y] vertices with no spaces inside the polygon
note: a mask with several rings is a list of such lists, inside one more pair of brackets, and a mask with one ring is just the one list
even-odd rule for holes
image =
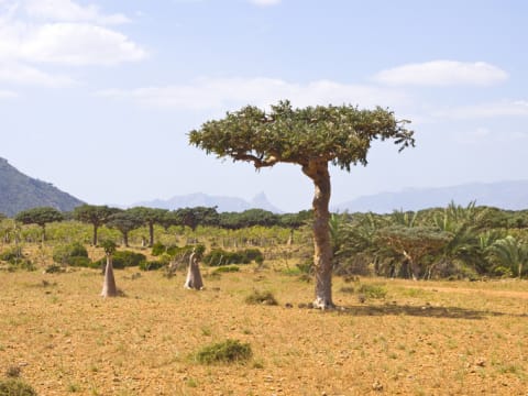
{"label": "wide flat green leafy canopy of the tall foreground tree", "polygon": [[306,164],[320,158],[350,170],[366,164],[371,142],[394,139],[400,147],[414,145],[408,121],[397,121],[382,108],[360,110],[353,106],[317,106],[294,109],[280,101],[265,111],[246,106],[221,120],[208,121],[189,133],[189,142],[207,153],[235,161],[253,162],[255,167],[278,162]]}

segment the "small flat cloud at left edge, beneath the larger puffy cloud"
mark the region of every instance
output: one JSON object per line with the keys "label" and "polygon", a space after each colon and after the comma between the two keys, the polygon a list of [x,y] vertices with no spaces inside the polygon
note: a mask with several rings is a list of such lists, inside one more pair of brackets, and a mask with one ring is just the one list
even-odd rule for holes
{"label": "small flat cloud at left edge, beneath the larger puffy cloud", "polygon": [[46,87],[64,87],[74,85],[75,81],[68,76],[52,75],[38,70],[35,67],[22,64],[1,64],[0,81],[20,85],[37,85]]}

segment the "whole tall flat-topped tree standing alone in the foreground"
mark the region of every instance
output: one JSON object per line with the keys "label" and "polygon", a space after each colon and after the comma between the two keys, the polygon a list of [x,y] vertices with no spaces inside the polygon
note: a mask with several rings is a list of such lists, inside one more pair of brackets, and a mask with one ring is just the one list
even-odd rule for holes
{"label": "whole tall flat-topped tree standing alone in the foreground", "polygon": [[253,106],[207,121],[189,133],[189,143],[217,154],[254,164],[256,169],[277,163],[301,166],[315,185],[314,265],[316,308],[332,308],[332,246],[329,233],[329,164],[350,172],[366,165],[373,140],[393,139],[399,150],[414,146],[409,121],[396,120],[383,108],[360,110],[354,106],[317,106],[294,109],[279,101],[265,112]]}

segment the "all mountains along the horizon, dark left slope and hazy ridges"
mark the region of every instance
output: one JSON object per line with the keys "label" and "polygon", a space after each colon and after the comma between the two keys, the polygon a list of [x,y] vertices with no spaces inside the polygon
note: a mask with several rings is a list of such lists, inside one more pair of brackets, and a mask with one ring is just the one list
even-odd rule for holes
{"label": "all mountains along the horizon, dark left slope and hazy ridges", "polygon": [[[380,193],[333,205],[332,211],[388,213],[393,210],[420,210],[446,207],[454,201],[468,205],[475,200],[477,206],[492,206],[502,209],[528,209],[528,180],[473,183],[453,187],[407,188],[396,193]],[[9,217],[19,211],[35,207],[53,207],[70,211],[84,204],[81,200],[61,191],[50,183],[29,177],[0,157],[0,212]],[[135,202],[132,206],[145,206],[163,209],[193,208],[198,206],[217,207],[219,212],[264,209],[275,213],[283,212],[267,200],[264,193],[251,200],[237,197],[210,196],[202,193],[175,196],[167,200],[155,199]]]}

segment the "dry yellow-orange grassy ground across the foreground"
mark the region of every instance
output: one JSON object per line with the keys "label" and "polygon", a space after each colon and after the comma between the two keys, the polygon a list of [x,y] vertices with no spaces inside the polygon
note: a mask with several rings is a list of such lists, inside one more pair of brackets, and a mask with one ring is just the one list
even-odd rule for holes
{"label": "dry yellow-orange grassy ground across the foreground", "polygon": [[[360,302],[336,279],[346,309],[321,312],[297,308],[312,284],[272,270],[208,277],[202,292],[183,273],[134,273],[118,271],[125,297],[107,300],[98,271],[0,273],[0,373],[19,366],[46,396],[526,395],[526,282],[362,279],[386,295]],[[246,305],[255,288],[282,305]],[[228,339],[253,358],[188,359]]]}

